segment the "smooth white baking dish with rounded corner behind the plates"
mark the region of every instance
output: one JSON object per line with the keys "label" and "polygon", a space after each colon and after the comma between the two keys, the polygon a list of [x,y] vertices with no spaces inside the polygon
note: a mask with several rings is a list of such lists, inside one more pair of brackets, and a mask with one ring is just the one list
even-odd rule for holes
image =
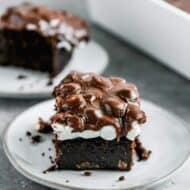
{"label": "smooth white baking dish with rounded corner behind the plates", "polygon": [[88,0],[88,5],[93,21],[190,79],[190,14],[162,0]]}

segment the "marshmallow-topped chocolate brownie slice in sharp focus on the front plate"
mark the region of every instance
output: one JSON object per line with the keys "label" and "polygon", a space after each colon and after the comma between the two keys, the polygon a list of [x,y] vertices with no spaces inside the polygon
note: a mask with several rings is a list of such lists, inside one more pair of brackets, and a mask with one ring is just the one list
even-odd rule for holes
{"label": "marshmallow-topped chocolate brownie slice in sharp focus on the front plate", "polygon": [[135,85],[118,77],[72,72],[55,88],[51,117],[59,169],[130,170],[146,115]]}

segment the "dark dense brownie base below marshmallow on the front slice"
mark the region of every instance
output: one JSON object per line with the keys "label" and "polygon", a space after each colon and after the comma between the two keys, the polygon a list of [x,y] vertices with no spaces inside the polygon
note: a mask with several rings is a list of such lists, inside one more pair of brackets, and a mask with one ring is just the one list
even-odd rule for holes
{"label": "dark dense brownie base below marshmallow on the front slice", "polygon": [[130,170],[134,142],[126,140],[105,141],[101,138],[56,141],[58,169],[116,169]]}

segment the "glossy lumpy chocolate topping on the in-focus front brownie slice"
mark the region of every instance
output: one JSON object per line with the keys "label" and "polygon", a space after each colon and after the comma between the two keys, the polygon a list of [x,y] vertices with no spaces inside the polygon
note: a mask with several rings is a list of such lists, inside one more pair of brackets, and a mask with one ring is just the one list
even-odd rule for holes
{"label": "glossy lumpy chocolate topping on the in-focus front brownie slice", "polygon": [[53,95],[57,114],[52,122],[70,126],[74,131],[111,125],[119,138],[127,134],[133,122],[146,122],[136,86],[122,78],[72,72],[54,89]]}

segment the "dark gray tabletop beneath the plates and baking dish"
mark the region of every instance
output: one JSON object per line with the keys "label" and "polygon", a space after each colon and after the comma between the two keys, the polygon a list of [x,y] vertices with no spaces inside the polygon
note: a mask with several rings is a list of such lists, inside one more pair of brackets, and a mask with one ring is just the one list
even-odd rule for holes
{"label": "dark gray tabletop beneath the plates and baking dish", "polygon": [[[93,39],[109,53],[110,65],[105,75],[119,75],[139,87],[144,99],[155,102],[190,121],[190,82],[154,59],[92,25]],[[0,99],[0,131],[23,110],[42,100]],[[22,126],[21,126],[22,127]],[[20,175],[7,160],[0,143],[0,189],[49,189]],[[160,188],[159,188],[160,189]]]}

